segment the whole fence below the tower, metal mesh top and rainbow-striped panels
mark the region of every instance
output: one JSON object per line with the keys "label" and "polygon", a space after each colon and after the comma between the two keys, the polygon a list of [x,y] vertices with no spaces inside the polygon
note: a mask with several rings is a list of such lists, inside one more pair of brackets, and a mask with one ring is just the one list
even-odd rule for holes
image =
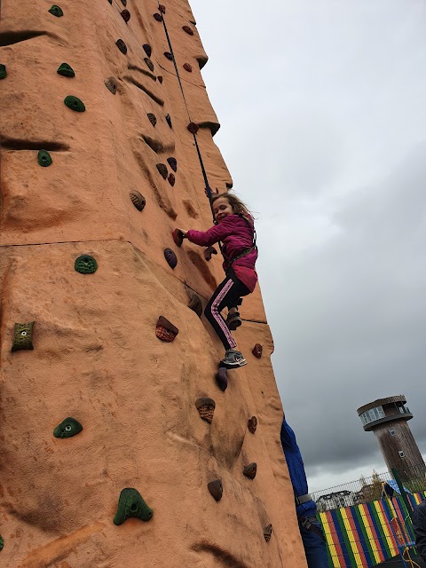
{"label": "whole fence below the tower, metal mesh top and rainbow-striped panels", "polygon": [[404,495],[388,472],[313,493],[330,568],[424,565],[416,556],[410,518],[426,495],[424,472],[424,464],[396,472],[404,478]]}

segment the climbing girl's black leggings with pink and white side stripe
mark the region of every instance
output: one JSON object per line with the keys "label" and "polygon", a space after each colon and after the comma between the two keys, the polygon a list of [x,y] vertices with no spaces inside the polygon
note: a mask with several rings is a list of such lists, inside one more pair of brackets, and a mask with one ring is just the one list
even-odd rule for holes
{"label": "climbing girl's black leggings with pink and white side stripe", "polygon": [[225,306],[227,308],[237,307],[237,305],[241,304],[241,296],[248,296],[249,293],[250,290],[241,280],[238,280],[235,272],[232,269],[228,269],[225,280],[219,284],[213,296],[209,299],[209,304],[206,305],[204,315],[209,319],[225,350],[233,349],[237,343],[235,343],[220,312],[222,312]]}

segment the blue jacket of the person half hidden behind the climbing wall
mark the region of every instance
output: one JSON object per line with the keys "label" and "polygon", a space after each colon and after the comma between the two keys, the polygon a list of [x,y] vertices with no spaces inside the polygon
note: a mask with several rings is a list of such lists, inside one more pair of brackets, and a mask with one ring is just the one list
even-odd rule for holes
{"label": "blue jacket of the person half hidden behind the climbing wall", "polygon": [[[296,497],[308,493],[308,482],[304,472],[304,461],[296,443],[295,432],[291,430],[284,418],[281,425],[281,446],[286,456],[288,473]],[[317,514],[315,501],[308,501],[296,507],[297,517],[310,517]]]}

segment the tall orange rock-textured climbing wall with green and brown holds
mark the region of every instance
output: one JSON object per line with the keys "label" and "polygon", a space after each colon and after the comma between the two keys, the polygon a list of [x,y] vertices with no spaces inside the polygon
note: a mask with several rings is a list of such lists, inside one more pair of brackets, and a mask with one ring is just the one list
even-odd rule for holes
{"label": "tall orange rock-textured climbing wall with green and brown holds", "polygon": [[194,139],[232,186],[206,62],[185,0],[1,2],[4,566],[305,566],[260,293],[217,375],[220,258],[171,237],[211,225]]}

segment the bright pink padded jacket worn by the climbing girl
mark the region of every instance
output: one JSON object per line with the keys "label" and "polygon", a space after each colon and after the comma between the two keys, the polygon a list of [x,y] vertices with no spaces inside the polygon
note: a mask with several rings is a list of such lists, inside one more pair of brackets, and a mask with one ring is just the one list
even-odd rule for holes
{"label": "bright pink padded jacket worn by the climbing girl", "polygon": [[[224,270],[226,271],[227,262],[233,256],[240,255],[246,248],[253,246],[254,226],[240,215],[227,215],[217,225],[202,233],[191,229],[186,233],[189,241],[209,247],[217,241],[224,243],[223,253],[225,257]],[[237,278],[247,286],[250,292],[256,287],[257,273],[255,264],[257,250],[253,249],[247,256],[241,256],[233,261],[232,267]]]}

